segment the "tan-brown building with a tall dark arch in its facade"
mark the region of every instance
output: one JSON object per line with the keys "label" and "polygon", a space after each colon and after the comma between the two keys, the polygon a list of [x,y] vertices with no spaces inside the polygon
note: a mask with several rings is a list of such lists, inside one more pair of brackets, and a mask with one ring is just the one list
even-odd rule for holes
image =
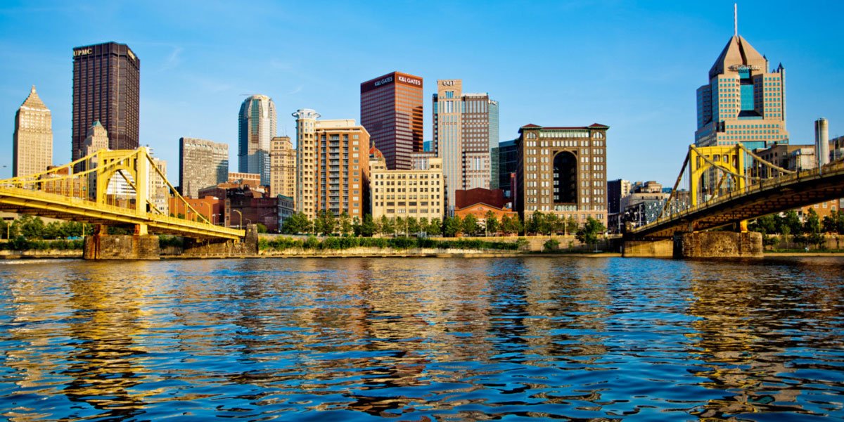
{"label": "tan-brown building with a tall dark arch in its facade", "polygon": [[607,225],[607,130],[586,127],[519,128],[516,209],[527,219],[536,211],[587,218]]}

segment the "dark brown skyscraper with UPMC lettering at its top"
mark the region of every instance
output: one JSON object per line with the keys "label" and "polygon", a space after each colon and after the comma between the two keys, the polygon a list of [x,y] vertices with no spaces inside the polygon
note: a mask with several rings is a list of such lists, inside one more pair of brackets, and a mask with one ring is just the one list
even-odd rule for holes
{"label": "dark brown skyscraper with UPMC lettering at its top", "polygon": [[138,148],[141,61],[125,44],[73,49],[73,160],[83,157],[88,129],[100,121],[109,149]]}

